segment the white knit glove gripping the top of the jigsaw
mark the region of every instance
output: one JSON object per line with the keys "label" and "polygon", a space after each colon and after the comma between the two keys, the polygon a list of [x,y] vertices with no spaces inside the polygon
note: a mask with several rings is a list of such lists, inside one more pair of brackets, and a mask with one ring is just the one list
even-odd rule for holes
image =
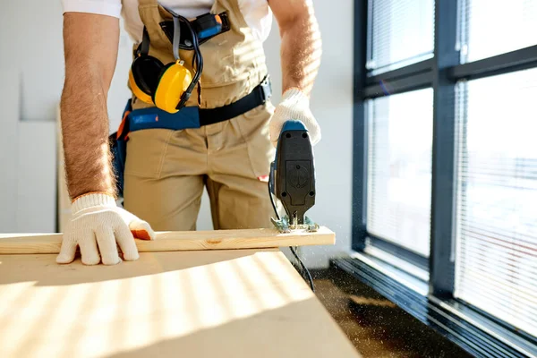
{"label": "white knit glove gripping the top of the jigsaw", "polygon": [[320,126],[310,110],[310,99],[302,90],[286,90],[270,119],[270,141],[276,147],[282,127],[289,120],[301,121],[310,133],[311,145],[320,141]]}

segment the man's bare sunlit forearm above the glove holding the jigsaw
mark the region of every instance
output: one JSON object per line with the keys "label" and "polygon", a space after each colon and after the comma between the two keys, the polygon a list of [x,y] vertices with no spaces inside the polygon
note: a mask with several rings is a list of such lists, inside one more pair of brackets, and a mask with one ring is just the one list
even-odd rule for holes
{"label": "man's bare sunlit forearm above the glove holding the jigsaw", "polygon": [[311,3],[308,10],[294,17],[280,32],[283,90],[295,87],[309,96],[319,71],[322,46]]}

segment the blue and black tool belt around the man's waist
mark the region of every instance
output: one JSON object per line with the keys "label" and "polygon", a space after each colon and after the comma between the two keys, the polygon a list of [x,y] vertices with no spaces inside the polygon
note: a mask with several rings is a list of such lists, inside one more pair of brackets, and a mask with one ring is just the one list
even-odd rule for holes
{"label": "blue and black tool belt around the man's waist", "polygon": [[250,94],[223,107],[210,109],[183,107],[179,112],[170,114],[157,107],[132,110],[132,101],[129,99],[124,109],[123,121],[119,129],[109,137],[118,194],[123,195],[124,166],[127,158],[127,141],[130,132],[157,128],[178,131],[188,128],[200,128],[203,125],[217,124],[238,115],[243,115],[251,111],[251,109],[263,105],[270,98],[271,94],[270,80],[267,75]]}

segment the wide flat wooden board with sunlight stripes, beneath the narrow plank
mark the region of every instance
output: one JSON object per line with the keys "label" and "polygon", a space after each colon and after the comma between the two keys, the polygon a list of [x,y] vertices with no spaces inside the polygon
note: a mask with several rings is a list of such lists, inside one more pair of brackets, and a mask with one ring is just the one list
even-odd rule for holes
{"label": "wide flat wooden board with sunlight stripes, beneath the narrow plank", "polygon": [[112,267],[0,262],[2,357],[360,356],[277,250],[146,252]]}

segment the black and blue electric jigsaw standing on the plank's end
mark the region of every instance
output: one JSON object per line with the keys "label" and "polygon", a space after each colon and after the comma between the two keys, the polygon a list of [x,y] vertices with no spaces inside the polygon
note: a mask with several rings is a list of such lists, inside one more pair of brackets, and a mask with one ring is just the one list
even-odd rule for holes
{"label": "black and blue electric jigsaw standing on the plank's end", "polygon": [[[300,121],[287,121],[280,132],[276,158],[270,164],[269,192],[279,199],[286,216],[272,223],[282,233],[317,231],[319,226],[305,213],[315,204],[315,166],[308,130]],[[276,208],[275,208],[276,209]]]}

